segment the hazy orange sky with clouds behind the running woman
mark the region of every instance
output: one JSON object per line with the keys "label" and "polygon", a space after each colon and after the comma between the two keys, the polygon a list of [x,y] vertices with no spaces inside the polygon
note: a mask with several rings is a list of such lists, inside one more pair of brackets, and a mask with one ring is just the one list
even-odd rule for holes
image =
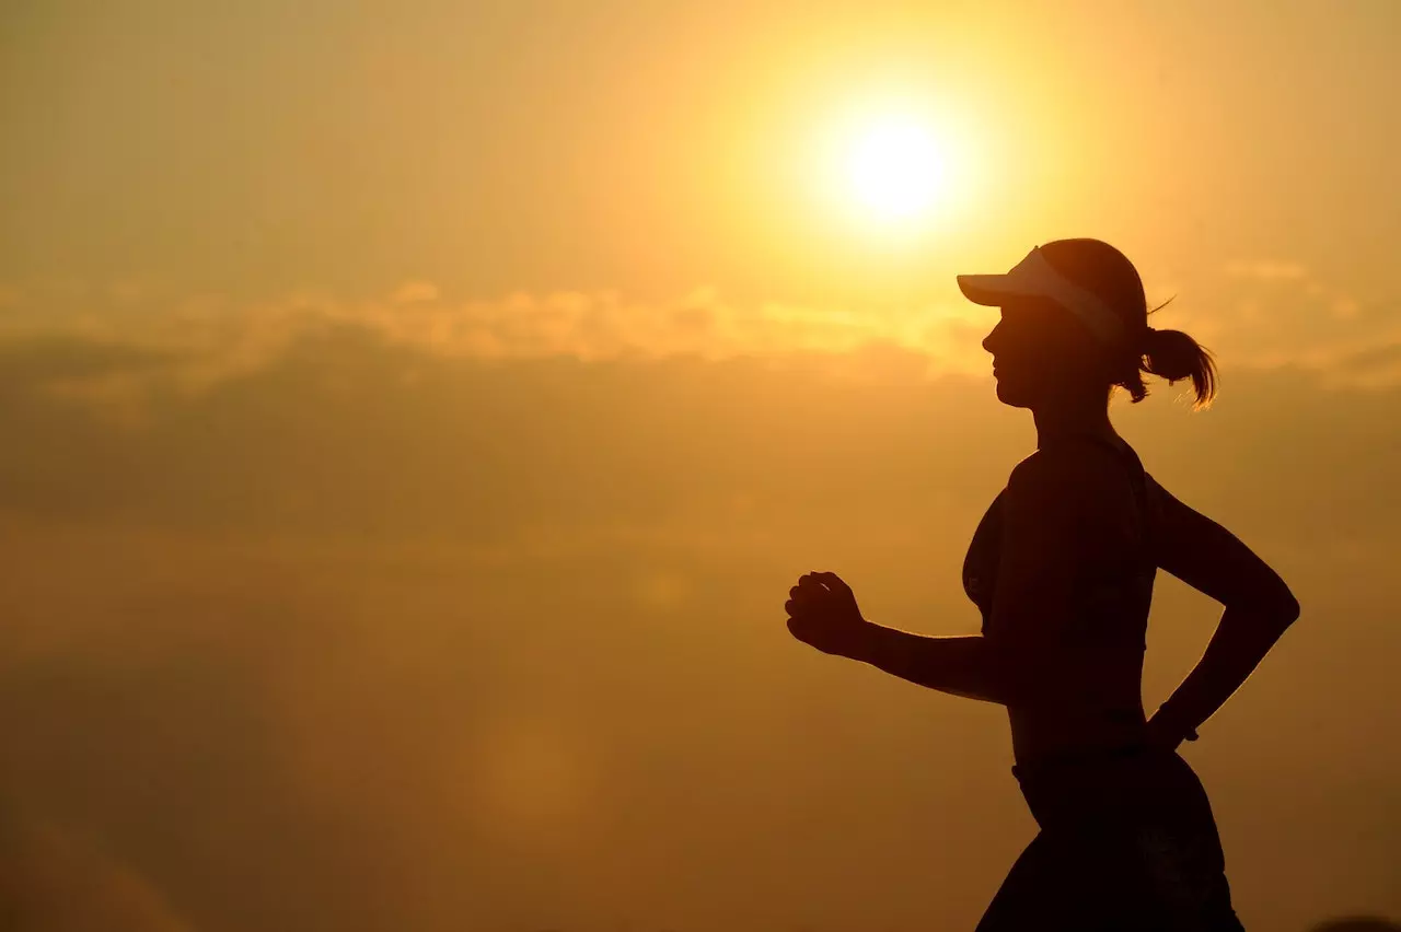
{"label": "hazy orange sky with clouds behind the running woman", "polygon": [[[6,4],[0,915],[971,928],[1034,831],[1005,718],[782,603],[834,570],[976,630],[962,551],[1034,435],[953,276],[1079,235],[1220,362],[1121,431],[1303,603],[1185,751],[1237,910],[1401,915],[1398,35],[1387,0]],[[905,224],[834,168],[892,113],[944,160]],[[1150,707],[1216,612],[1160,578]]]}

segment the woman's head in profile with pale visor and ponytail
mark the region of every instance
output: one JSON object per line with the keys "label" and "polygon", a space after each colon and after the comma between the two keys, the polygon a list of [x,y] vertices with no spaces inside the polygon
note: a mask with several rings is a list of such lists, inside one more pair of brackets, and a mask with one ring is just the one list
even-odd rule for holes
{"label": "woman's head in profile with pale visor and ponytail", "polygon": [[1035,407],[1112,386],[1140,402],[1143,372],[1168,383],[1189,378],[1198,407],[1216,393],[1210,354],[1180,330],[1147,325],[1138,270],[1105,242],[1058,239],[1006,276],[960,276],[958,283],[969,299],[1002,308],[982,346],[1007,404]]}

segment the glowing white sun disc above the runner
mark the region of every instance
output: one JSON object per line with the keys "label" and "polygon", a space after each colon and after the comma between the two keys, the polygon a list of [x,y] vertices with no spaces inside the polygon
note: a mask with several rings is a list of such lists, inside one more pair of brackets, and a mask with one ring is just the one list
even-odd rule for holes
{"label": "glowing white sun disc above the runner", "polygon": [[843,161],[849,195],[871,220],[918,220],[947,195],[944,147],[918,119],[884,118],[859,127]]}

